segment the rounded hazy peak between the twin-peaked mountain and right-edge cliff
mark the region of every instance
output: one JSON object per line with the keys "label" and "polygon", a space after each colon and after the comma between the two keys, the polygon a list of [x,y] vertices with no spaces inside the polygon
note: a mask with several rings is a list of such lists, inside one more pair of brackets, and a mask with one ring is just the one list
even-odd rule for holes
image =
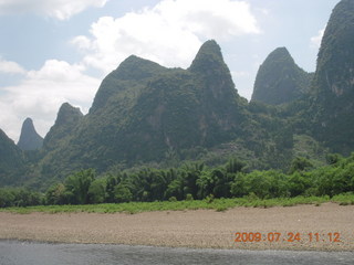
{"label": "rounded hazy peak between the twin-peaked mountain and right-edge cliff", "polygon": [[287,47],[268,55],[257,73],[252,102],[279,105],[299,99],[310,89],[312,74],[300,68]]}

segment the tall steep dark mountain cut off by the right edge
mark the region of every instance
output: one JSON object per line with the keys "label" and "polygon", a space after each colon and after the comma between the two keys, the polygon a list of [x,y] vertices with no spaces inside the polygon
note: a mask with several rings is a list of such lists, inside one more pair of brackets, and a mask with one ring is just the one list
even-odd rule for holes
{"label": "tall steep dark mountain cut off by the right edge", "polygon": [[313,82],[314,136],[332,151],[354,149],[354,1],[342,0],[325,29]]}

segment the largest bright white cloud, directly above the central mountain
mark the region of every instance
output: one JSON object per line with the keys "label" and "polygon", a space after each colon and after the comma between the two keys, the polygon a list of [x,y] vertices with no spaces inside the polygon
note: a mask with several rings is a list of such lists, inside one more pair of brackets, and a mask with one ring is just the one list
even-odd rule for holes
{"label": "largest bright white cloud, directly above the central mountain", "polygon": [[101,18],[90,33],[72,43],[86,54],[87,65],[107,73],[131,54],[164,66],[186,67],[204,41],[260,30],[244,1],[164,0],[121,18]]}

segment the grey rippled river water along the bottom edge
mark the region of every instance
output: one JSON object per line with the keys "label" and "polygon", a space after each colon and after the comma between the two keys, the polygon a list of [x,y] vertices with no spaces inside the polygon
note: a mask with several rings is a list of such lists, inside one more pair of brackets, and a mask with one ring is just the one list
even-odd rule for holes
{"label": "grey rippled river water along the bottom edge", "polygon": [[354,264],[354,252],[191,250],[0,241],[1,265]]}

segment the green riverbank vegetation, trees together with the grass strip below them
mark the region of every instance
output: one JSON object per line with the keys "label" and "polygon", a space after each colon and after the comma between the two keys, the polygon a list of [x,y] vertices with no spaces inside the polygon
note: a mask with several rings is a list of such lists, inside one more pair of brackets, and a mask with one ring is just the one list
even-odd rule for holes
{"label": "green riverbank vegetation, trees together with the grass strip below them", "polygon": [[353,192],[354,153],[347,158],[331,155],[327,165],[320,168],[313,168],[305,158],[296,158],[287,173],[248,172],[238,159],[217,168],[192,162],[177,169],[144,168],[135,172],[110,172],[100,178],[93,169],[86,169],[45,192],[0,188],[0,208],[37,206],[32,209],[49,212],[222,211],[239,205],[268,208],[327,201],[354,204]]}

